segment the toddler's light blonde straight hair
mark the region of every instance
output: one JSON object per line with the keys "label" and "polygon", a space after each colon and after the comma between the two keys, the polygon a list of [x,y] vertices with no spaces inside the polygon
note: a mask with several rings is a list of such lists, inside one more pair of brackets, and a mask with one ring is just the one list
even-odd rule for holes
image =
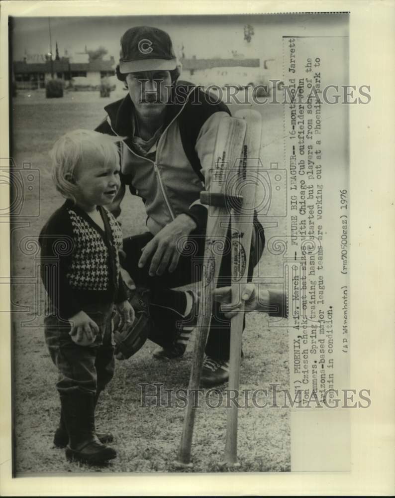
{"label": "toddler's light blonde straight hair", "polygon": [[[71,180],[77,166],[83,164],[84,156],[95,154],[102,159],[103,165],[118,163],[119,151],[113,137],[89,129],[76,129],[61,136],[52,147],[49,155],[52,160],[52,180],[56,190],[63,197],[76,202],[79,189]],[[66,177],[70,178],[67,179]]]}

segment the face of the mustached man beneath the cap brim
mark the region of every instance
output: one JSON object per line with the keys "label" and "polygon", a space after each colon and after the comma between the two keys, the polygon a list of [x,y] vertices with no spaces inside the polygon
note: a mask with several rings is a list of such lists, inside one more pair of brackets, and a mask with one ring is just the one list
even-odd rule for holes
{"label": "face of the mustached man beneath the cap brim", "polygon": [[126,84],[137,113],[143,119],[161,115],[170,97],[170,71],[129,73]]}

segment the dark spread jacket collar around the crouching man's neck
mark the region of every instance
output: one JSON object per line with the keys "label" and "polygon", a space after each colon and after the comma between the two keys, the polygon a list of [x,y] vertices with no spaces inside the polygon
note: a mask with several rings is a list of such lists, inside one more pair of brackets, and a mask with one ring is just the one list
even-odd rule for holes
{"label": "dark spread jacket collar around the crouching man's neck", "polygon": [[[164,123],[165,128],[177,116],[177,114],[181,112],[194,90],[198,90],[198,87],[187,81],[177,82],[177,84],[172,87],[170,103],[166,108]],[[129,94],[127,94],[123,99],[105,106],[104,111],[107,113],[111,127],[117,135],[131,135],[131,119],[135,111]]]}

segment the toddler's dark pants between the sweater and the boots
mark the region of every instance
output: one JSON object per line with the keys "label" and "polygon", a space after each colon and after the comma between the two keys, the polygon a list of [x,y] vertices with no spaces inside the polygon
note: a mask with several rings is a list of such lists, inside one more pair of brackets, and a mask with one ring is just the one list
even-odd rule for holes
{"label": "toddler's dark pants between the sweater and the boots", "polygon": [[111,380],[114,374],[112,309],[112,303],[84,308],[99,326],[99,334],[91,346],[79,346],[73,342],[68,322],[53,315],[45,317],[45,341],[59,371],[56,384],[59,394],[74,390],[96,393]]}

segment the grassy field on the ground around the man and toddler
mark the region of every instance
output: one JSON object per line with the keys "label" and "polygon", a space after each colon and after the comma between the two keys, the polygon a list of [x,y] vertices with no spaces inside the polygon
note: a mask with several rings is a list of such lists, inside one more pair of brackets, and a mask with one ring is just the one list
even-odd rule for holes
{"label": "grassy field on the ground around the man and toddler", "polygon": [[[111,96],[111,101],[119,96]],[[172,465],[180,441],[182,408],[140,407],[139,384],[163,382],[165,389],[188,386],[193,338],[182,359],[157,361],[152,358],[155,345],[147,342],[130,360],[117,362],[115,376],[102,393],[97,411],[97,427],[110,430],[118,457],[103,468],[70,464],[64,450],[52,447],[58,422],[59,401],[55,389],[56,368],[46,350],[43,329],[21,326],[36,319],[35,277],[37,255],[21,252],[20,241],[38,236],[50,214],[63,203],[50,178],[48,150],[64,132],[74,128],[94,128],[104,117],[102,107],[110,102],[96,93],[66,93],[63,99],[46,100],[40,92],[19,92],[11,103],[13,158],[39,170],[39,187],[27,192],[24,209],[33,212],[39,196],[40,213],[30,226],[15,226],[13,232],[13,276],[22,277],[13,286],[13,392],[14,392],[14,463],[17,474],[64,472],[175,472]],[[281,137],[273,129],[281,120],[280,106],[265,115],[265,142],[281,150]],[[234,110],[234,109],[233,109]],[[274,114],[278,113],[278,115]],[[270,125],[269,125],[270,124]],[[125,235],[145,231],[145,213],[141,200],[127,195],[122,204]],[[280,227],[281,229],[281,227]],[[266,238],[275,235],[272,229]],[[280,274],[280,261],[267,250],[259,263],[260,274]],[[29,280],[30,279],[30,280]],[[29,283],[30,282],[30,283]],[[26,308],[23,308],[26,307]],[[42,321],[42,319],[41,319]],[[38,323],[38,322],[37,322]],[[270,384],[287,388],[288,337],[285,328],[271,329],[267,315],[251,313],[243,336],[244,358],[241,389],[267,389]],[[221,389],[226,388],[223,386]],[[150,390],[152,390],[150,388]],[[215,405],[218,393],[212,393]],[[164,393],[166,404],[166,393]],[[285,408],[248,407],[239,410],[238,454],[241,471],[290,470],[290,413]],[[222,460],[226,427],[226,408],[198,409],[193,444],[196,472],[224,470]]]}

